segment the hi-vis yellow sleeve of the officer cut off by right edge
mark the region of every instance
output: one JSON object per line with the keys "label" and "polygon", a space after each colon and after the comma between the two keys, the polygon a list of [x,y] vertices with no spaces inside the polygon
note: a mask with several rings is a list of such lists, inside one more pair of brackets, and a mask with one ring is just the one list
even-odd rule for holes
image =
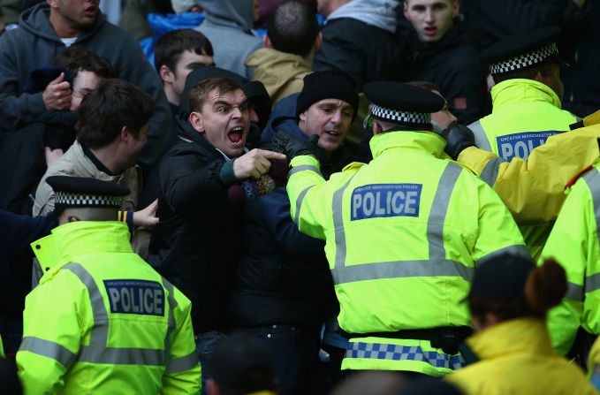
{"label": "hi-vis yellow sleeve of the officer cut off by right edge", "polygon": [[[596,171],[596,170],[592,170]],[[566,270],[568,291],[560,305],[548,314],[552,346],[565,355],[573,346],[583,315],[585,277],[600,257],[594,204],[589,188],[579,179],[566,198],[563,209],[540,258],[554,258]]]}

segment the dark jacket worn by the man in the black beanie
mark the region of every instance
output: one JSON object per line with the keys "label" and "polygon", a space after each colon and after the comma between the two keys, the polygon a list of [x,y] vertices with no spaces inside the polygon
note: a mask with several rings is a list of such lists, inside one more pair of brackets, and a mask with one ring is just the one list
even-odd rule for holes
{"label": "dark jacket worn by the man in the black beanie", "polygon": [[244,213],[244,257],[229,308],[232,325],[320,330],[335,306],[324,241],[298,231],[285,186],[247,200]]}

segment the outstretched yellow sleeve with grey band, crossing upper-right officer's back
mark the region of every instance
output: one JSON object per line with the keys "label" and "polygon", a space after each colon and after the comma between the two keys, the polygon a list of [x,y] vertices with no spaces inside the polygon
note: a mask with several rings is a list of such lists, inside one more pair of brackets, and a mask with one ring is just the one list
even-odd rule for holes
{"label": "outstretched yellow sleeve with grey band, crossing upper-right officer's back", "polygon": [[517,224],[542,224],[558,216],[565,186],[598,156],[600,125],[551,136],[527,160],[505,162],[495,154],[469,147],[459,163],[472,168],[494,188]]}

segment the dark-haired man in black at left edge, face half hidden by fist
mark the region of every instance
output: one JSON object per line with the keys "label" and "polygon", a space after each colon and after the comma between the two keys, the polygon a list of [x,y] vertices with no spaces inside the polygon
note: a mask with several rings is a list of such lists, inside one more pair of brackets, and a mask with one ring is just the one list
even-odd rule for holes
{"label": "dark-haired man in black at left edge, face half hidden by fist", "polygon": [[31,72],[27,91],[42,92],[60,74],[71,80],[69,110],[48,110],[18,133],[4,132],[0,141],[0,209],[31,214],[33,195],[48,166],[56,162],[75,140],[75,112],[81,99],[114,70],[104,57],[76,45],[52,62]]}

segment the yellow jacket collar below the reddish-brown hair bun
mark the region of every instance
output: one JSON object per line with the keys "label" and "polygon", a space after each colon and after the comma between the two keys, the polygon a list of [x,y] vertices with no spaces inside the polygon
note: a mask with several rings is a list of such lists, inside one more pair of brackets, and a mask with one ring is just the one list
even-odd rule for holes
{"label": "yellow jacket collar below the reddish-brown hair bun", "polygon": [[498,323],[467,339],[467,344],[480,360],[510,353],[554,354],[546,324],[533,317]]}

